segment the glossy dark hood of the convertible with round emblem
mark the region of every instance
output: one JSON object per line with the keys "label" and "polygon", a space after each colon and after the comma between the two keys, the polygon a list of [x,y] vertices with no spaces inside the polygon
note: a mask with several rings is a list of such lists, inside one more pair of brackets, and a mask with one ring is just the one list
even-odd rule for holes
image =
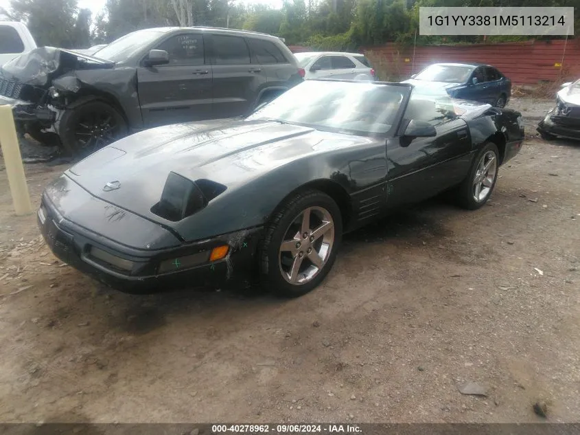
{"label": "glossy dark hood of the convertible with round emblem", "polygon": [[125,137],[65,174],[95,197],[159,221],[150,209],[170,172],[192,181],[216,181],[233,192],[240,183],[297,157],[365,140],[270,121],[177,124]]}

